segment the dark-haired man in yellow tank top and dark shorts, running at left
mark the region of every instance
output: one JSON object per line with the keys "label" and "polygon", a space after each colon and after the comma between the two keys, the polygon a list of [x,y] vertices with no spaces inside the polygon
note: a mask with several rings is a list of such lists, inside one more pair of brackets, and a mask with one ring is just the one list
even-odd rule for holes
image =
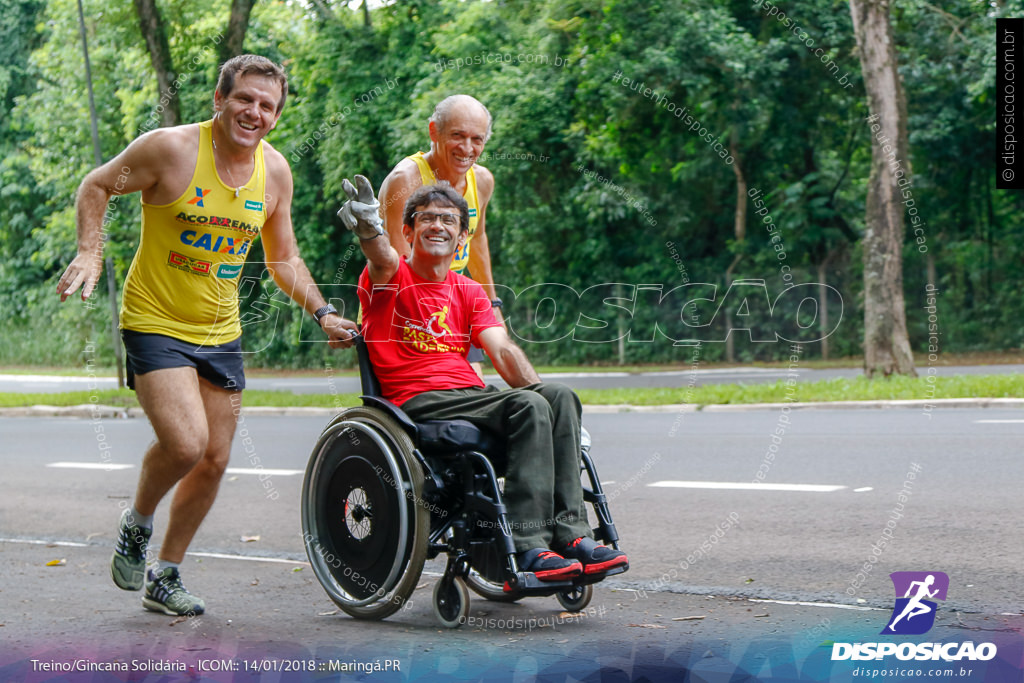
{"label": "dark-haired man in yellow tank top and dark shorts, running at left", "polygon": [[[145,585],[142,604],[194,615],[202,599],[178,565],[213,505],[227,466],[245,388],[238,288],[257,237],[278,286],[313,315],[333,347],[351,346],[355,326],[325,305],[292,229],[292,172],[263,141],[288,95],[284,70],[264,57],[226,61],[212,121],[161,128],[128,145],[82,181],[78,255],[57,283],[82,299],[101,270],[102,224],[114,195],[142,193],[142,234],[125,281],[121,330],[128,383],[157,440],[142,460],[134,505],[121,516],[111,560],[125,590]],[[177,484],[155,566],[146,546],[157,505]]]}

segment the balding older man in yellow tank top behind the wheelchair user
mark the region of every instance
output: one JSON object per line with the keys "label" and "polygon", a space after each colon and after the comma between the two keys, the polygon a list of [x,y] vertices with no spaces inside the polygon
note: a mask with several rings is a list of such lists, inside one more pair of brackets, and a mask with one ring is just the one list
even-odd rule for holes
{"label": "balding older man in yellow tank top behind the wheelchair user", "polygon": [[[434,109],[428,127],[430,152],[419,152],[401,160],[381,184],[379,202],[384,227],[398,255],[408,257],[409,243],[401,233],[406,201],[422,185],[446,181],[455,187],[469,205],[469,236],[452,259],[452,269],[483,286],[501,321],[502,302],[495,292],[485,221],[487,203],[495,191],[495,176],[476,163],[490,137],[490,113],[469,95],[452,95]],[[480,349],[470,349],[469,360],[482,377]]]}

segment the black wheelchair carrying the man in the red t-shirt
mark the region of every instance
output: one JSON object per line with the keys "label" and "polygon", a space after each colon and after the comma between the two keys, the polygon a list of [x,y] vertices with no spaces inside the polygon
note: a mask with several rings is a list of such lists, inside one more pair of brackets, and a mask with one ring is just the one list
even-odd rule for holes
{"label": "black wheelchair carrying the man in the red t-shirt", "polygon": [[[324,429],[302,482],[302,530],[317,581],[347,614],[382,620],[416,590],[424,562],[445,553],[433,611],[447,628],[469,614],[469,590],[515,602],[556,595],[567,611],[584,609],[593,584],[629,565],[568,581],[540,581],[516,562],[502,503],[504,445],[465,420],[414,423],[381,396],[361,337],[355,341],[362,405]],[[583,431],[584,502],[593,506],[594,537],[616,548],[618,535]]]}

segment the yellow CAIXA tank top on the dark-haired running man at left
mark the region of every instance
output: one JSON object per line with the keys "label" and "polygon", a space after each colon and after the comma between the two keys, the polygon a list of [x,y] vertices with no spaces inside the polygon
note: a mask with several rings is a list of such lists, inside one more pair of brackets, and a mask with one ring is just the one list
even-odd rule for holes
{"label": "yellow CAIXA tank top on the dark-haired running man at left", "polygon": [[242,266],[266,221],[263,145],[252,176],[236,189],[217,175],[211,126],[199,126],[199,157],[184,194],[161,206],[142,202],[142,234],[121,303],[125,330],[201,345],[242,335]]}

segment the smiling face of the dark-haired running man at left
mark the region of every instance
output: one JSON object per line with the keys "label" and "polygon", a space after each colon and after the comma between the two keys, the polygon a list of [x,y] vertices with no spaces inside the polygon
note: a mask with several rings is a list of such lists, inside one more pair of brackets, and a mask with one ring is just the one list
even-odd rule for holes
{"label": "smiling face of the dark-haired running man at left", "polygon": [[278,81],[256,74],[236,78],[227,95],[214,92],[214,121],[222,139],[239,147],[259,144],[278,124],[282,94]]}

